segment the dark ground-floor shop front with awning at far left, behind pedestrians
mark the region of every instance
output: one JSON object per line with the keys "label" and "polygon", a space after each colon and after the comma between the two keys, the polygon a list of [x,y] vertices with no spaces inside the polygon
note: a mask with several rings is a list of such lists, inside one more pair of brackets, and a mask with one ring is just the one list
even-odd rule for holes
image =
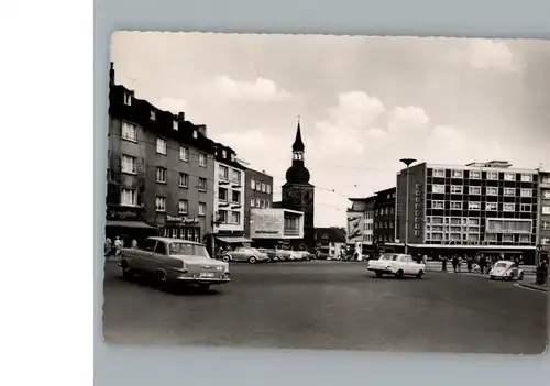
{"label": "dark ground-floor shop front with awning at far left, behind pedestrians", "polygon": [[146,238],[156,235],[157,228],[143,220],[143,207],[107,206],[106,238],[111,239],[111,241],[120,238],[124,245],[130,245],[132,240],[140,244]]}

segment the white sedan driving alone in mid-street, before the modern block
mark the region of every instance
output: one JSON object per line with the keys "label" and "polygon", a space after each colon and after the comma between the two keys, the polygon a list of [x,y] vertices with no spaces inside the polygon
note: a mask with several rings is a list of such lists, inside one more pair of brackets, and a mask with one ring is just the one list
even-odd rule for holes
{"label": "white sedan driving alone in mid-street, before the modern block", "polygon": [[411,255],[403,253],[385,253],[378,260],[371,260],[366,269],[382,275],[394,275],[395,277],[416,276],[421,278],[426,273],[426,265],[416,263]]}

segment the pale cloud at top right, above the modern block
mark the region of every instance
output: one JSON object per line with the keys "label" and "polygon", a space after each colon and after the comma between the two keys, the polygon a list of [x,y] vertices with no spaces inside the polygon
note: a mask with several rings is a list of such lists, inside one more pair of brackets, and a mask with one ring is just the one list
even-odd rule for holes
{"label": "pale cloud at top right, above the modern block", "polygon": [[509,46],[497,40],[474,40],[470,47],[470,64],[474,68],[515,73],[517,60]]}

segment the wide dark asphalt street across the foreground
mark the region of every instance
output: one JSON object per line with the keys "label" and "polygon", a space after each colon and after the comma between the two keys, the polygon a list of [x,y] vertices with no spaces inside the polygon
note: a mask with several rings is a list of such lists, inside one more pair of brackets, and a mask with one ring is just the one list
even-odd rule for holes
{"label": "wide dark asphalt street across the foreground", "polygon": [[106,264],[108,343],[539,354],[547,295],[479,275],[375,278],[349,262],[232,263],[208,294]]}

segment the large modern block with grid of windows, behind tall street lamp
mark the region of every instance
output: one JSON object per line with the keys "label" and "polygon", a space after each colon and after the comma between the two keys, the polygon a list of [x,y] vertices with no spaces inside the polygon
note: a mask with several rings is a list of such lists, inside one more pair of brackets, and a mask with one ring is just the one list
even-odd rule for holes
{"label": "large modern block with grid of windows, behind tall street lamp", "polygon": [[397,175],[396,242],[407,238],[408,246],[421,253],[446,246],[469,254],[521,254],[532,262],[537,184],[537,170],[503,161],[410,166]]}

